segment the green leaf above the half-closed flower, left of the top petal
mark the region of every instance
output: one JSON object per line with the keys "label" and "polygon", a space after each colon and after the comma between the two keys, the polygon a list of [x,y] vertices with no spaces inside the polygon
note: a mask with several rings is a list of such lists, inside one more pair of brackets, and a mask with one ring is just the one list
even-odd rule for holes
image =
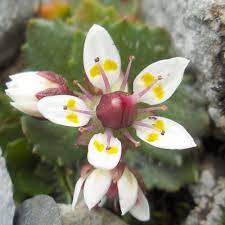
{"label": "green leaf above the half-closed flower, left of the top petal", "polygon": [[72,39],[72,28],[62,21],[31,20],[23,49],[27,68],[54,71],[69,81],[76,79],[70,63]]}

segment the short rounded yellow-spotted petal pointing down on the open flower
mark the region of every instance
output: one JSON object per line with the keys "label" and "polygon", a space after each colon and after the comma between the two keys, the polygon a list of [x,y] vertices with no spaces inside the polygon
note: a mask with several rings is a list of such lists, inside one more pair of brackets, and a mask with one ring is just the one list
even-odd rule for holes
{"label": "short rounded yellow-spotted petal pointing down on the open flower", "polygon": [[101,169],[113,169],[120,161],[121,142],[114,137],[110,140],[110,149],[107,148],[107,135],[95,134],[88,145],[88,161],[91,165]]}

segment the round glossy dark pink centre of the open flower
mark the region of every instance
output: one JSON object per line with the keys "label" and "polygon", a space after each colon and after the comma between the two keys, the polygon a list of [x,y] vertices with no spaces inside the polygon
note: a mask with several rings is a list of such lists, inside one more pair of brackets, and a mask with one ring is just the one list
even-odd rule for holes
{"label": "round glossy dark pink centre of the open flower", "polygon": [[137,115],[136,101],[122,91],[104,94],[96,108],[104,127],[120,129],[132,125]]}

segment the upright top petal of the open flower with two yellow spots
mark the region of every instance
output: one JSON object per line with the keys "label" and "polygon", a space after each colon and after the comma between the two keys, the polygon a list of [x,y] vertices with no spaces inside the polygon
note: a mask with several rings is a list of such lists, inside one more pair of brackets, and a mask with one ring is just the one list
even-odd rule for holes
{"label": "upright top petal of the open flower with two yellow spots", "polygon": [[84,43],[84,68],[90,82],[105,90],[102,76],[95,64],[97,57],[100,59],[110,85],[112,85],[120,76],[120,55],[109,33],[103,27],[95,24],[88,31]]}

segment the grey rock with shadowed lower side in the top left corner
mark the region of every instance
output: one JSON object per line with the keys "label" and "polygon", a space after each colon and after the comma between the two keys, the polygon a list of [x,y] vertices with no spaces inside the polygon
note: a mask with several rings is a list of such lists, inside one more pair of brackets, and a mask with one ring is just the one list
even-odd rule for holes
{"label": "grey rock with shadowed lower side in the top left corner", "polygon": [[40,0],[1,0],[0,1],[0,67],[4,66],[24,39],[27,20],[37,10]]}

